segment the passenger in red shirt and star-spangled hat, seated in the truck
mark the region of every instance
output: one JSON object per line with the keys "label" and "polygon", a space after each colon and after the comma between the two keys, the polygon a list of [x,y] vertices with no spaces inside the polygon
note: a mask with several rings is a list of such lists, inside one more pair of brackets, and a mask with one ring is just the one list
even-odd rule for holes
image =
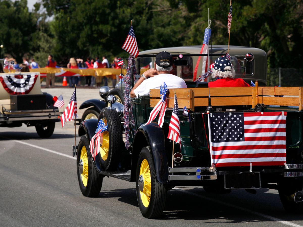
{"label": "passenger in red shirt and star-spangled hat, seated in the truck", "polygon": [[208,83],[209,87],[250,87],[241,78],[235,78],[235,70],[231,64],[229,54],[218,58],[211,66],[211,77],[217,78],[216,81]]}

